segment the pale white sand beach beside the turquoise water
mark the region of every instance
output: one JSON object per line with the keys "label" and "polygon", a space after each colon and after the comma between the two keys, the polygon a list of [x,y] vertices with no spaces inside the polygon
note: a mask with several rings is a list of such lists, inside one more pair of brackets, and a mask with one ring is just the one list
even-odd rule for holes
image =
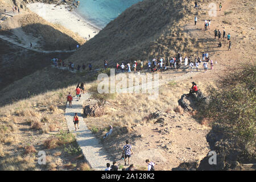
{"label": "pale white sand beach beside the turquoise water", "polygon": [[86,40],[89,40],[89,35],[93,38],[100,31],[100,28],[93,26],[75,11],[68,11],[65,5],[56,6],[36,2],[27,7],[48,22],[61,24]]}

